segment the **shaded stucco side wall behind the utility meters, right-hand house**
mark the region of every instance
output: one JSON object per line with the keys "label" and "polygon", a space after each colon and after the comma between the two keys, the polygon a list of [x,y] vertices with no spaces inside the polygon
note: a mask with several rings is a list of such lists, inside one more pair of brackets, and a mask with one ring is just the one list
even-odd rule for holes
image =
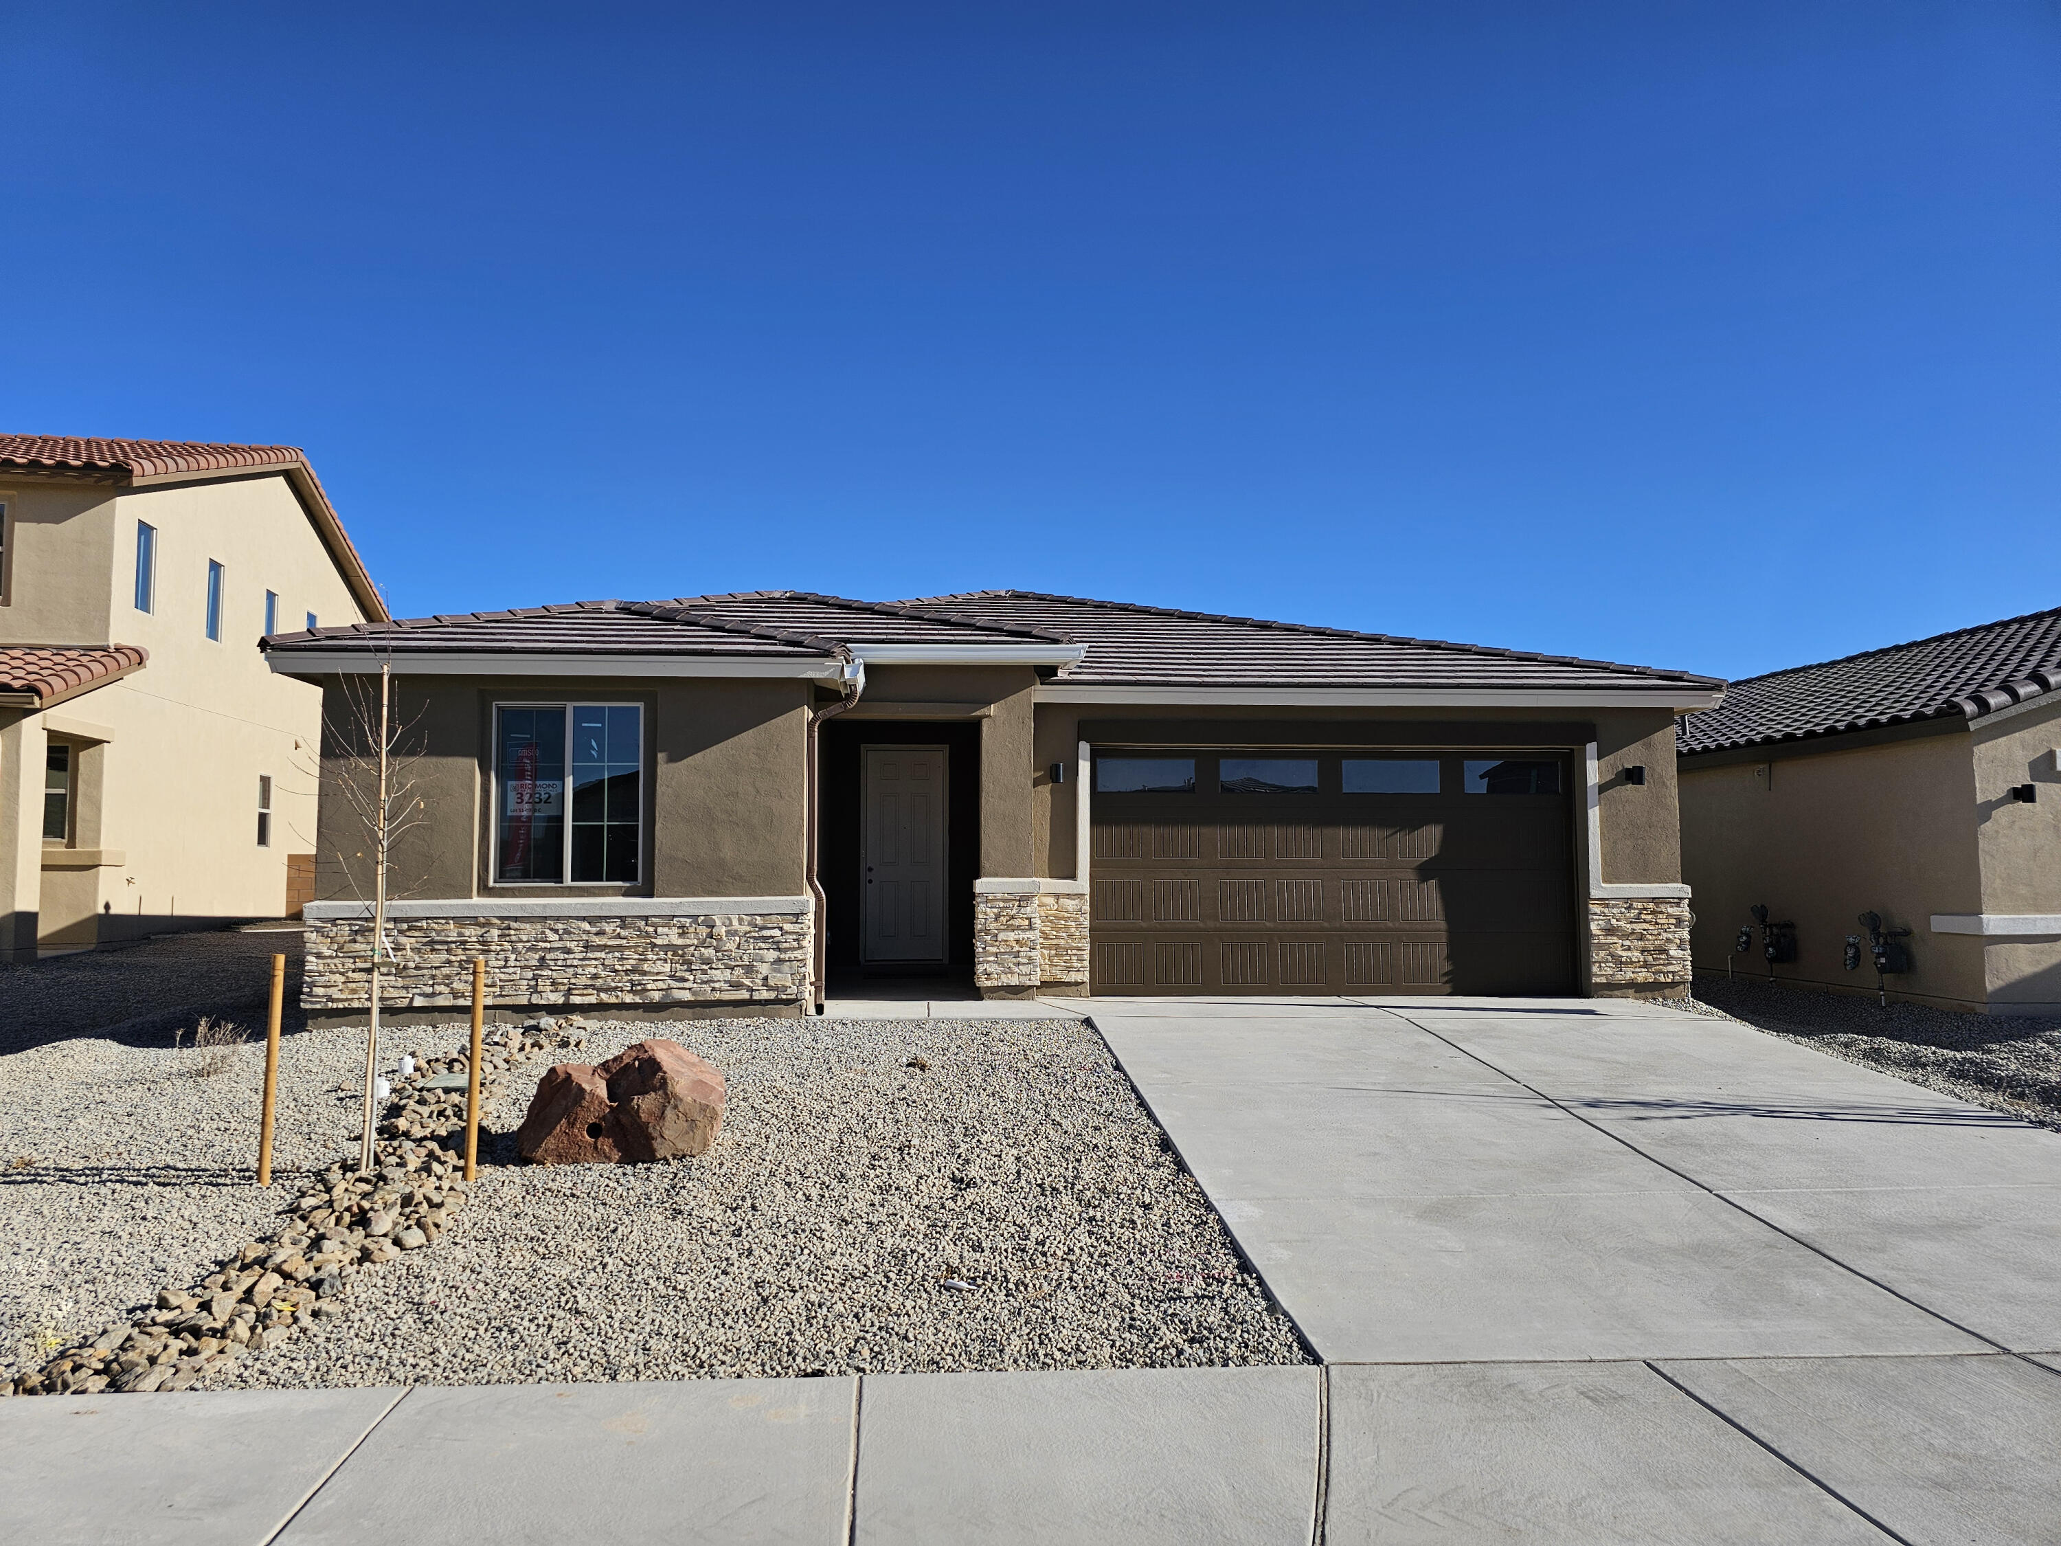
{"label": "shaded stucco side wall behind the utility meters, right-hand house", "polygon": [[[1849,973],[1840,956],[1861,932],[1859,913],[1876,911],[1913,930],[1915,969],[1890,979],[1892,994],[1983,1006],[1981,940],[1931,930],[1935,913],[1976,913],[1983,901],[1966,732],[1717,767],[1690,761],[1680,779],[1698,971],[1723,971],[1733,936],[1752,923],[1748,907],[1766,903],[1797,926],[1797,961],[1777,967],[1777,979],[1873,992],[1876,973]],[[1735,965],[1766,975],[1758,932]]]}

